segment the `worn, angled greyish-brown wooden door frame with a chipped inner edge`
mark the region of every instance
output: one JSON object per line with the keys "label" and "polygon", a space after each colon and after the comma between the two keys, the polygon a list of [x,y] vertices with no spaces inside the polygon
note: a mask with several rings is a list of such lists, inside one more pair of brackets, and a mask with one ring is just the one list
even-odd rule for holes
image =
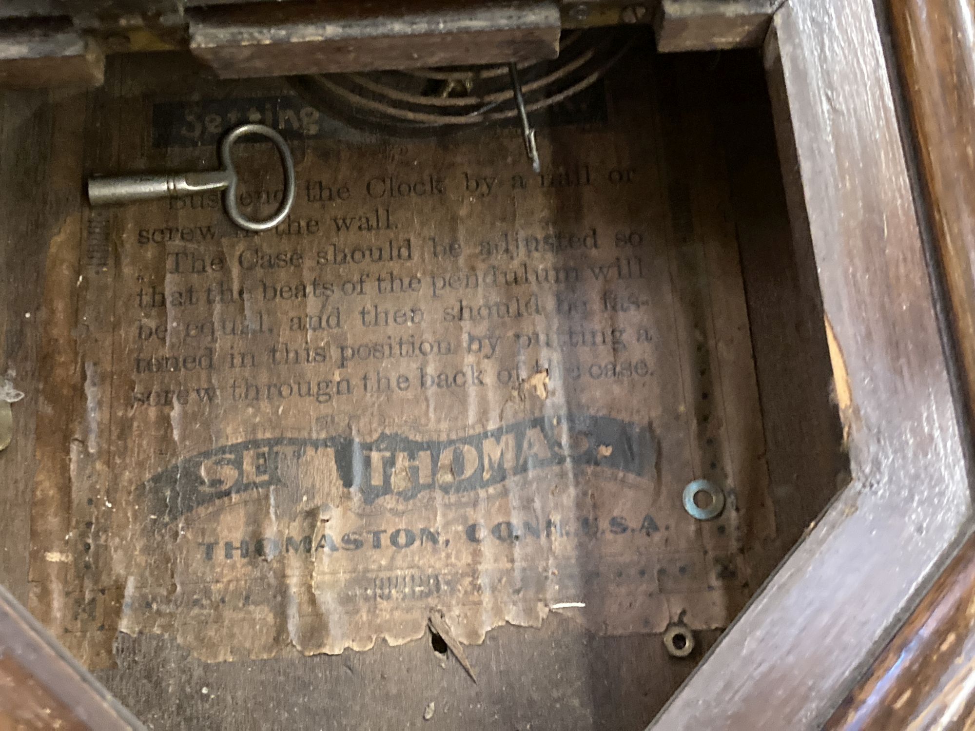
{"label": "worn, angled greyish-brown wooden door frame with a chipped inner edge", "polygon": [[768,43],[852,483],[655,721],[818,728],[971,519],[962,437],[873,5],[792,0]]}

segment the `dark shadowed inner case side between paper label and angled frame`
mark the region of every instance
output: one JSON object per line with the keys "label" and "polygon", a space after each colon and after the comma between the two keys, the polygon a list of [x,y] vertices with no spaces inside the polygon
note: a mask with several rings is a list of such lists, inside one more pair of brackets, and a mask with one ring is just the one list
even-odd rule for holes
{"label": "dark shadowed inner case side between paper label and angled frame", "polygon": [[830,399],[833,372],[823,357],[828,345],[813,253],[808,237],[793,240],[761,64],[747,71],[715,84],[715,94],[726,99],[724,154],[775,503],[774,546],[762,547],[764,579],[849,480],[849,460]]}

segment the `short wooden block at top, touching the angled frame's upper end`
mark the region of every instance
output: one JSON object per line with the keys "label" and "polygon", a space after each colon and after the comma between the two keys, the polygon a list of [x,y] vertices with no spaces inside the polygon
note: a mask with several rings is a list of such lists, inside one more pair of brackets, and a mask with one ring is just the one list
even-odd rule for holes
{"label": "short wooden block at top, touching the angled frame's upper end", "polygon": [[761,46],[781,0],[661,0],[657,49],[718,51]]}

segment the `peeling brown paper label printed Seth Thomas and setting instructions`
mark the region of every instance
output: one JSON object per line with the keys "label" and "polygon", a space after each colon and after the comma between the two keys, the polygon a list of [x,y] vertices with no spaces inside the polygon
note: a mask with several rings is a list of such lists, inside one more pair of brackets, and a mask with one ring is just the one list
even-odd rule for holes
{"label": "peeling brown paper label printed Seth Thomas and setting instructions", "polygon": [[[746,514],[750,540],[773,532],[761,438],[736,426],[757,399],[726,398],[754,391],[750,342],[712,327],[711,279],[741,296],[704,263],[726,245],[679,259],[646,205],[640,103],[561,131],[549,185],[504,130],[322,139],[276,232],[236,230],[215,194],[93,213],[117,268],[79,282],[72,533],[37,547],[63,565],[36,572],[61,641],[98,667],[118,632],[232,661],[400,644],[435,613],[465,644],[553,610],[605,635],[724,626]],[[151,102],[126,114],[119,169],[203,165],[137,159]],[[242,157],[259,198],[274,153]],[[639,186],[606,182],[619,161]],[[705,475],[727,508],[699,523],[682,492]]]}

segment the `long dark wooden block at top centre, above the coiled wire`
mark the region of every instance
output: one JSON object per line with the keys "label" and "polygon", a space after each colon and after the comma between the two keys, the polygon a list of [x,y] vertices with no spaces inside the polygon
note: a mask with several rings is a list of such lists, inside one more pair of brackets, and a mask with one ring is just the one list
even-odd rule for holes
{"label": "long dark wooden block at top centre, above the coiled wire", "polygon": [[432,0],[390,10],[362,3],[255,4],[190,17],[190,50],[223,78],[555,58],[554,2]]}

